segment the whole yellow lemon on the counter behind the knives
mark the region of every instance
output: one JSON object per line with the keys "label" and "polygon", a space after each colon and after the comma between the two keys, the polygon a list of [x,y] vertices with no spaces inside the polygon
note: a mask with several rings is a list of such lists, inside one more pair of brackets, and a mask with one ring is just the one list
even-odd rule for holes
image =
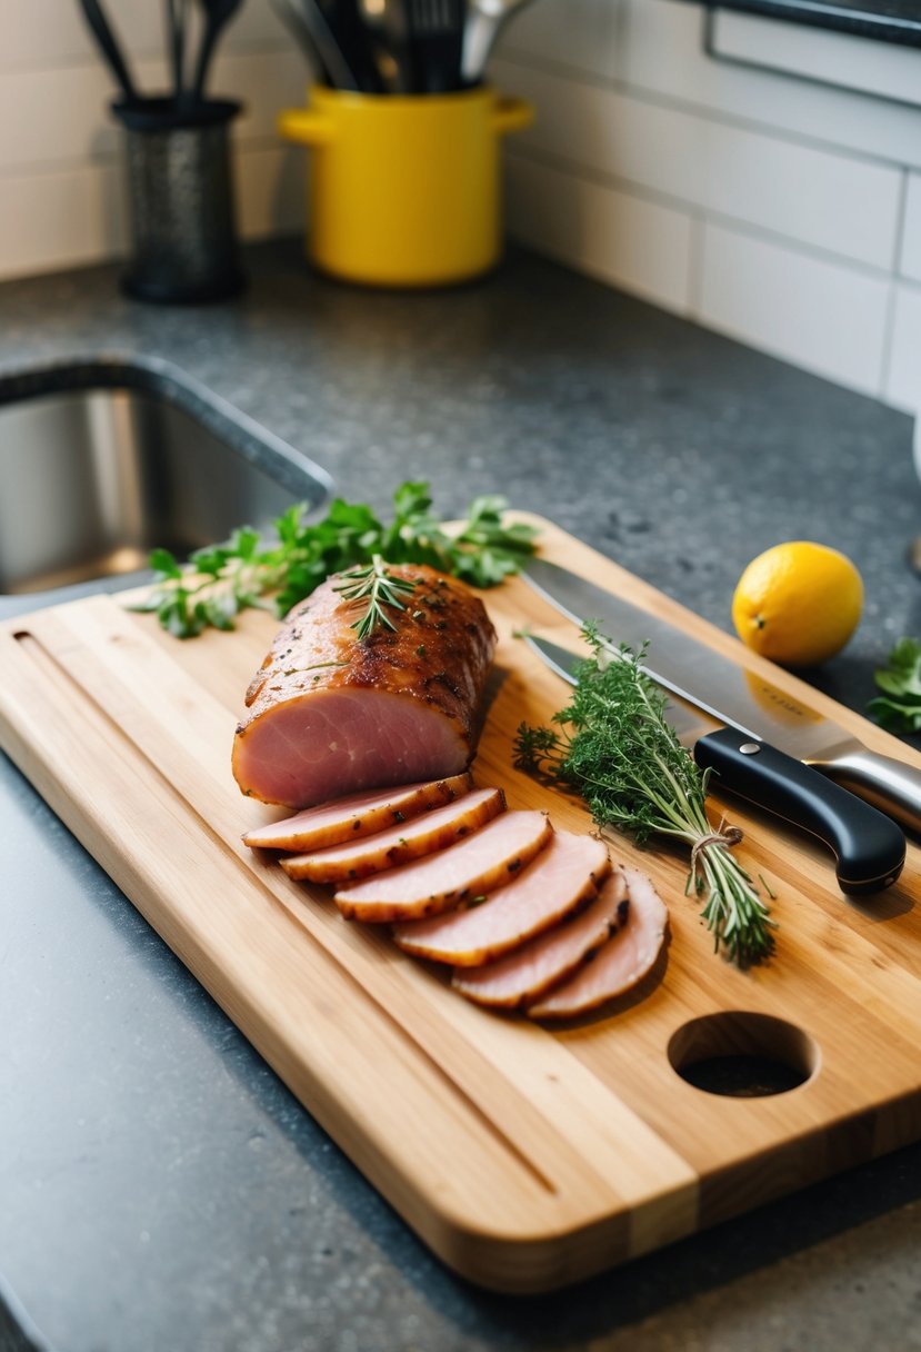
{"label": "whole yellow lemon on the counter behind the knives", "polygon": [[752,558],[732,598],[732,622],[763,657],[814,667],[844,648],[862,608],[863,581],[849,558],[791,539]]}

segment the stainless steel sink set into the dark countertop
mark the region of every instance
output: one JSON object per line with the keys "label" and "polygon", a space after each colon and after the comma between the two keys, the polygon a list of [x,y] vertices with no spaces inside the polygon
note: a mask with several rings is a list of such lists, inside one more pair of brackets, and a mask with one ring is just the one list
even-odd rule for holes
{"label": "stainless steel sink set into the dark countertop", "polygon": [[[178,557],[263,530],[328,475],[228,404],[144,366],[55,370],[54,391],[0,387],[0,594],[139,581],[153,546]],[[180,397],[196,410],[182,407]]]}

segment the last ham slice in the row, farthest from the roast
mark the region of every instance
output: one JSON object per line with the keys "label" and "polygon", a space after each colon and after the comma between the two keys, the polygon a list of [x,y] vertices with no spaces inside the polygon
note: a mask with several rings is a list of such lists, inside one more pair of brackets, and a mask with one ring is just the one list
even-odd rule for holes
{"label": "last ham slice in the row, farthest from the roast", "polygon": [[[666,904],[650,879],[624,868],[629,894],[627,925],[598,949],[574,976],[531,1006],[531,1018],[571,1018],[586,1014],[636,986],[655,965],[668,925]],[[614,875],[616,877],[616,875]],[[613,883],[606,883],[601,892]]]}

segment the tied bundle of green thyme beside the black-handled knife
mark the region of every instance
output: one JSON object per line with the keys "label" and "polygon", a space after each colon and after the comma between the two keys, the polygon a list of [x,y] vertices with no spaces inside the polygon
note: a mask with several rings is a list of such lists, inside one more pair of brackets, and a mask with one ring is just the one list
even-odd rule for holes
{"label": "tied bundle of green thyme beside the black-handled knife", "polygon": [[593,653],[571,702],[552,727],[519,727],[515,764],[578,791],[598,826],[629,831],[640,845],[654,834],[689,845],[686,892],[706,894],[701,914],[714,949],[743,968],[760,961],[774,949],[774,921],[729,850],[741,833],[708,821],[709,773],[667,722],[666,696],[641,671],[646,649],[614,648],[594,625],[583,634]]}

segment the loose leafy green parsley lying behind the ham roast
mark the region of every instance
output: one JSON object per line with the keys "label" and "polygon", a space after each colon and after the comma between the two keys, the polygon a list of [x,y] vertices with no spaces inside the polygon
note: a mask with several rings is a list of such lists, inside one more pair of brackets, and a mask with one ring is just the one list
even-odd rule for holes
{"label": "loose leafy green parsley lying behind the ham roast", "polygon": [[242,526],[224,544],[197,549],[185,565],[155,549],[154,585],[136,608],[155,611],[177,638],[193,638],[209,626],[234,629],[235,617],[250,607],[286,615],[331,573],[373,566],[375,556],[429,564],[474,587],[493,587],[535,550],[533,527],[506,525],[506,507],[494,493],[474,498],[460,530],[448,533],[421,480],[397,488],[389,525],[367,504],[342,498],[321,521],[304,522],[304,504],[294,503],[274,522],[274,541]]}

